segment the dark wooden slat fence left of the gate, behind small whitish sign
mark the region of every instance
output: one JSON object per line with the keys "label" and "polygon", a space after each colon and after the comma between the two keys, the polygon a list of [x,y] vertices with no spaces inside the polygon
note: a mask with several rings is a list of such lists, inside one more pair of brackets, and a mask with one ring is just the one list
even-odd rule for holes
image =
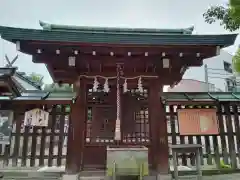
{"label": "dark wooden slat fence left of the gate, behind small whitish sign", "polygon": [[[61,166],[65,165],[67,153],[67,128],[69,106],[46,105],[50,113],[48,127],[25,127],[24,112],[30,110],[27,104],[24,111],[14,112],[11,144],[0,147],[3,166]],[[43,107],[43,105],[42,105]]]}

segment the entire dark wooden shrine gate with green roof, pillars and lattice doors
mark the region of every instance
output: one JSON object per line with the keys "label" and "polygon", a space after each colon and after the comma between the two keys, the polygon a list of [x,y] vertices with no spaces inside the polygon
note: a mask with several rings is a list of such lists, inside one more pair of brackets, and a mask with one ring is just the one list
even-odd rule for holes
{"label": "entire dark wooden shrine gate with green roof, pillars and lattice doors", "polygon": [[53,80],[73,84],[66,171],[104,169],[108,145],[144,145],[153,171],[168,173],[164,85],[201,66],[235,34],[194,35],[186,29],[124,29],[54,25],[0,26],[1,37],[44,63]]}

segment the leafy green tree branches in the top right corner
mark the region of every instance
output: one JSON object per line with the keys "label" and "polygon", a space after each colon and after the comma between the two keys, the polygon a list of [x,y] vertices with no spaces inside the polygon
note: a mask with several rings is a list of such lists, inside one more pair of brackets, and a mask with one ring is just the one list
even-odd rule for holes
{"label": "leafy green tree branches in the top right corner", "polygon": [[224,6],[212,6],[203,14],[209,24],[220,22],[226,30],[236,31],[240,28],[240,1],[230,0],[230,4]]}

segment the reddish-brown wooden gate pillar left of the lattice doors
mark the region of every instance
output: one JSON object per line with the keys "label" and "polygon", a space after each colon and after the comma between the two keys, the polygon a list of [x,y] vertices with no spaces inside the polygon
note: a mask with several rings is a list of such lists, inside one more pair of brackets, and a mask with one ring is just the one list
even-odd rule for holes
{"label": "reddish-brown wooden gate pillar left of the lattice doors", "polygon": [[68,130],[66,173],[76,174],[83,164],[83,151],[85,142],[85,122],[87,118],[87,88],[84,79],[80,82],[78,97],[71,104],[71,114]]}

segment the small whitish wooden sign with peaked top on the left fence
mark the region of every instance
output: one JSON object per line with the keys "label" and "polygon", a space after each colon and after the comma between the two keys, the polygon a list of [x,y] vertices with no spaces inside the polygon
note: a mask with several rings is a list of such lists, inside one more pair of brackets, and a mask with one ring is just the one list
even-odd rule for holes
{"label": "small whitish wooden sign with peaked top on the left fence", "polygon": [[48,126],[49,113],[42,109],[25,112],[24,126]]}

